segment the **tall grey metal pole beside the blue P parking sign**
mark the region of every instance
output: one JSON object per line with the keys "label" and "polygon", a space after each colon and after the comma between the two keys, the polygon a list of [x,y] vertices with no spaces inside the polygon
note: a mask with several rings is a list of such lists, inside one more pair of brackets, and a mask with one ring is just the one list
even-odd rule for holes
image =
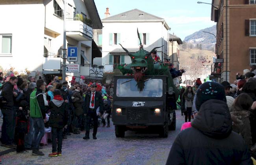
{"label": "tall grey metal pole beside the blue P parking sign", "polygon": [[63,64],[62,64],[62,82],[66,81],[66,0],[64,0],[64,10],[63,10]]}

